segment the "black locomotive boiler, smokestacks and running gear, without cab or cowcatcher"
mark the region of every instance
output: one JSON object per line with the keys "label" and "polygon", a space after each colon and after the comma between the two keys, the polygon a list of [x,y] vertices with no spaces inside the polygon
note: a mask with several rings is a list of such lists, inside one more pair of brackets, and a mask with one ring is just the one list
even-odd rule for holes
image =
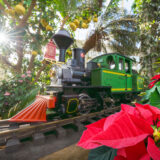
{"label": "black locomotive boiler, smokestacks and running gear, without cab or cowcatcher", "polygon": [[[60,30],[53,36],[53,41],[60,50],[59,65],[53,65],[55,76],[52,77],[48,92],[58,97],[56,103],[57,113],[74,114],[88,113],[91,110],[101,109],[102,97],[110,87],[91,86],[90,72],[85,68],[85,50],[74,48],[73,58],[65,63],[65,52],[73,43],[66,30]],[[99,101],[99,102],[98,102]]]}

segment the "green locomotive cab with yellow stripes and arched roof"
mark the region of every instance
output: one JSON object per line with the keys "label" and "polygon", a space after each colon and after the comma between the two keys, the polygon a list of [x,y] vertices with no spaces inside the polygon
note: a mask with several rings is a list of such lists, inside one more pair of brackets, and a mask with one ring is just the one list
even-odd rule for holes
{"label": "green locomotive cab with yellow stripes and arched roof", "polygon": [[104,54],[92,59],[97,64],[91,71],[91,85],[111,86],[117,100],[132,100],[143,90],[144,78],[132,69],[134,60],[118,53]]}

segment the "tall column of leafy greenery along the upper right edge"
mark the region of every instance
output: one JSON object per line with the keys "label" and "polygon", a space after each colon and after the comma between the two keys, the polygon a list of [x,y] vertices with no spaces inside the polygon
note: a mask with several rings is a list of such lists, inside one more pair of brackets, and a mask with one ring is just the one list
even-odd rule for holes
{"label": "tall column of leafy greenery along the upper right edge", "polygon": [[[139,52],[144,74],[153,76],[153,63],[160,52],[160,0],[135,0],[134,12],[139,26]],[[157,70],[159,72],[159,70]]]}

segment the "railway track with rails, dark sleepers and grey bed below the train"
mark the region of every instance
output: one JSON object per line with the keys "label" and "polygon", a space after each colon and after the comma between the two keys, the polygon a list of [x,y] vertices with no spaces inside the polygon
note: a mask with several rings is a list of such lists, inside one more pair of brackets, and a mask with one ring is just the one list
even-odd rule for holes
{"label": "railway track with rails, dark sleepers and grey bed below the train", "polygon": [[76,143],[86,124],[120,110],[120,106],[63,120],[37,124],[0,121],[0,159],[37,160]]}

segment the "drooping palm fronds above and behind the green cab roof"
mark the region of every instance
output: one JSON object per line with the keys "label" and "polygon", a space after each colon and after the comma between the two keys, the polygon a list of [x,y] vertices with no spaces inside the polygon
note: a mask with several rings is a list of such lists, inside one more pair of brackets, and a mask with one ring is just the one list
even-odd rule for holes
{"label": "drooping palm fronds above and behind the green cab roof", "polygon": [[135,16],[128,15],[111,1],[109,6],[101,13],[95,31],[84,45],[85,50],[95,48],[97,51],[107,52],[106,42],[114,51],[121,54],[133,55],[137,53],[137,23]]}

